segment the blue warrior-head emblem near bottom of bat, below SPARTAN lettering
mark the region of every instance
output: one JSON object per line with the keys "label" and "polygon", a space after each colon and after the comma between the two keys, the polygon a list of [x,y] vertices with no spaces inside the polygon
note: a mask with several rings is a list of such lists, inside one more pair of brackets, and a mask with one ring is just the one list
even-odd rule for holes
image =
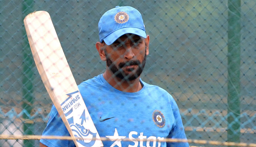
{"label": "blue warrior-head emblem near bottom of bat, below SPARTAN lettering", "polygon": [[[65,115],[66,117],[70,115],[73,112],[73,108],[71,108]],[[75,123],[73,116],[68,118],[68,123],[70,125],[71,130],[74,133],[74,136],[79,138],[77,140],[78,143],[82,144],[83,146],[86,147],[91,147],[95,143],[96,134],[97,133],[92,133],[89,129],[85,129],[85,110],[80,116],[79,121],[81,121],[80,124]],[[85,122],[85,123],[84,123]]]}

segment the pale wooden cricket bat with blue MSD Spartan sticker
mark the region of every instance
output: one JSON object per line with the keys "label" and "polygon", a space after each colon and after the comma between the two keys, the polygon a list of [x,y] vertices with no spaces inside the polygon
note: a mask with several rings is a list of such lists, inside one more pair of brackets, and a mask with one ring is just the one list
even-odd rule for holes
{"label": "pale wooden cricket bat with blue MSD Spartan sticker", "polygon": [[24,24],[37,70],[76,147],[102,147],[49,13],[30,13]]}

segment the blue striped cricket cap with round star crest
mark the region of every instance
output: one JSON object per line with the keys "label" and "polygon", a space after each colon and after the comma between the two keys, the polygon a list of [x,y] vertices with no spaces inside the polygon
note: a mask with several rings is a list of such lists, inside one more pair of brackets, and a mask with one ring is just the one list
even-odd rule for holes
{"label": "blue striped cricket cap with round star crest", "polygon": [[140,12],[130,6],[116,6],[108,10],[100,18],[98,27],[100,42],[104,40],[107,45],[111,45],[126,33],[147,38]]}

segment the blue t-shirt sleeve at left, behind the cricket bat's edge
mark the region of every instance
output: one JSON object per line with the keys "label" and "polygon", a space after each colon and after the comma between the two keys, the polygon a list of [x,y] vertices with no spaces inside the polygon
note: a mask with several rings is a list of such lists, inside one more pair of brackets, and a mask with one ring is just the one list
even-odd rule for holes
{"label": "blue t-shirt sleeve at left, behind the cricket bat's edge", "polygon": [[[48,135],[70,136],[64,122],[62,121],[54,105],[52,105],[46,128],[44,129],[42,134],[42,136]],[[75,143],[70,140],[40,139],[40,143],[43,143],[48,147],[75,147]]]}

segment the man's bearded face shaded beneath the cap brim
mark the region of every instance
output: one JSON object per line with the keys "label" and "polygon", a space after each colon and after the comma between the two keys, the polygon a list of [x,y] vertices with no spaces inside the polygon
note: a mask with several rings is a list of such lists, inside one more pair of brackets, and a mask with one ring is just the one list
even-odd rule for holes
{"label": "man's bearded face shaded beneath the cap brim", "polygon": [[147,46],[145,39],[134,34],[125,34],[104,50],[107,66],[119,79],[135,80],[140,76],[146,63]]}

